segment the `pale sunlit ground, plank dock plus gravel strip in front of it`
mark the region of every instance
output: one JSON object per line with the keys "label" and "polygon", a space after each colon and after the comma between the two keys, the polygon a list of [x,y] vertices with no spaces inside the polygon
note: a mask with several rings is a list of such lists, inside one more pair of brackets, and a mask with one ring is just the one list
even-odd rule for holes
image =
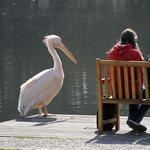
{"label": "pale sunlit ground, plank dock plus gravel strip in front of it", "polygon": [[[53,147],[52,142],[48,149],[63,149],[60,145],[67,145],[70,142],[72,142],[72,146],[74,147],[72,148],[71,146],[72,149],[113,149],[113,145],[115,149],[117,148],[116,146],[119,146],[118,149],[150,149],[150,118],[145,117],[142,121],[142,124],[148,128],[143,133],[135,132],[128,128],[126,120],[127,117],[120,118],[120,130],[104,131],[103,134],[98,133],[96,116],[92,115],[57,114],[56,116],[49,116],[47,118],[35,115],[9,120],[0,123],[0,148],[12,148],[15,142],[19,143],[19,141],[23,142],[23,140],[28,141],[28,143],[32,140],[33,144],[36,140],[41,141],[43,139],[49,144],[52,141],[55,141],[55,144],[57,143],[57,146]],[[38,144],[41,143],[38,142]],[[17,144],[13,148],[40,149],[41,147],[38,144],[34,144],[33,147],[17,147]],[[122,148],[120,144],[127,147]],[[108,145],[109,148],[107,147]],[[64,147],[64,149],[70,149],[69,146],[67,145],[67,148]]]}

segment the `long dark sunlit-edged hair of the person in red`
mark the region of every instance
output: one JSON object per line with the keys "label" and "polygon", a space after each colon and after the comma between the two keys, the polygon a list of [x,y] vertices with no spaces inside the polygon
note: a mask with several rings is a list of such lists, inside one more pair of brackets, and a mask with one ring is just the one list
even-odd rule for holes
{"label": "long dark sunlit-edged hair of the person in red", "polygon": [[[120,45],[131,44],[132,47],[138,50],[142,56],[142,53],[140,51],[137,41],[138,41],[137,34],[133,30],[127,28],[121,33],[120,41],[118,42],[118,44]],[[107,53],[109,54],[109,52],[110,51],[108,51]],[[143,56],[142,56],[142,59],[144,59]]]}

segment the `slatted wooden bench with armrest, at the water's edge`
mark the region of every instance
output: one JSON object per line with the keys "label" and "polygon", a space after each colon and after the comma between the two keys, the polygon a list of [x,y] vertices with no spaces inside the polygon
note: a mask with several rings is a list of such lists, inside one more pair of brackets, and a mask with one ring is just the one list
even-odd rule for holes
{"label": "slatted wooden bench with armrest, at the water's edge", "polygon": [[[112,96],[110,97],[110,78],[108,73],[108,67],[111,69],[111,85],[112,85]],[[118,90],[119,98],[116,98],[115,93],[115,79],[114,79],[114,67],[117,67],[118,76]],[[122,96],[122,85],[121,85],[121,73],[120,67],[124,69],[124,80],[125,80],[125,98]],[[129,98],[129,85],[128,85],[128,67],[131,72],[131,86],[132,86],[132,99]],[[137,67],[138,72],[138,90],[139,99],[136,99],[135,91],[135,76],[134,68]],[[146,99],[143,99],[142,94],[142,81],[141,81],[141,67],[144,69],[144,84],[146,90]],[[150,63],[146,61],[112,61],[112,60],[100,60],[96,58],[96,75],[97,75],[97,90],[98,90],[98,131],[103,132],[103,125],[108,123],[114,123],[115,129],[120,129],[120,110],[119,104],[146,104],[150,105],[149,99],[149,85],[148,85],[148,73],[147,68],[150,67]],[[105,94],[105,97],[104,97]],[[115,104],[116,115],[115,118],[110,120],[103,120],[103,103]]]}

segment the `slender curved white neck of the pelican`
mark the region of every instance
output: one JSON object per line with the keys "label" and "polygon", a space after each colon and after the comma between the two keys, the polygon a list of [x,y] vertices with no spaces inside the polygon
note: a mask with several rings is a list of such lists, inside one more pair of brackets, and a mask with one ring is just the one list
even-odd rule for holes
{"label": "slender curved white neck of the pelican", "polygon": [[56,71],[59,71],[59,70],[63,71],[62,62],[61,62],[61,60],[59,58],[59,55],[57,54],[54,46],[52,44],[49,44],[48,49],[49,49],[49,52],[52,55],[52,58],[54,60],[54,70],[56,70]]}

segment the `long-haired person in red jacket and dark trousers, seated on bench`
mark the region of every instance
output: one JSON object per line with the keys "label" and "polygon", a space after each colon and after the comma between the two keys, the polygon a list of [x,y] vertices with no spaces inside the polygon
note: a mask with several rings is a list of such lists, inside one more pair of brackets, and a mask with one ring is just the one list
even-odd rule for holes
{"label": "long-haired person in red jacket and dark trousers, seated on bench", "polygon": [[[143,56],[139,49],[139,46],[137,44],[137,35],[136,33],[131,29],[126,29],[122,32],[120,41],[109,51],[108,53],[108,59],[109,60],[121,60],[121,61],[142,61]],[[116,69],[116,67],[114,68]],[[114,70],[114,72],[116,72]],[[123,91],[123,97],[125,97],[125,86],[124,86],[124,75],[123,70],[121,69],[122,74],[122,91]],[[143,98],[145,97],[145,88],[144,88],[144,78],[143,78],[143,68],[141,68],[141,77],[142,77],[142,90],[143,90]],[[109,68],[109,75],[111,79],[110,74],[110,68]],[[116,97],[118,97],[118,80],[117,80],[117,74],[115,73],[115,89],[116,89]],[[130,70],[128,69],[128,81],[129,81],[129,96],[132,98],[132,88],[131,88],[131,75]],[[135,68],[135,88],[136,88],[136,96],[138,98],[138,81],[137,81],[137,69]],[[111,84],[110,84],[110,90]],[[140,124],[143,117],[145,116],[146,112],[150,108],[150,105],[129,105],[129,116],[127,120],[127,125],[140,132],[144,132],[147,130],[147,128]]]}

